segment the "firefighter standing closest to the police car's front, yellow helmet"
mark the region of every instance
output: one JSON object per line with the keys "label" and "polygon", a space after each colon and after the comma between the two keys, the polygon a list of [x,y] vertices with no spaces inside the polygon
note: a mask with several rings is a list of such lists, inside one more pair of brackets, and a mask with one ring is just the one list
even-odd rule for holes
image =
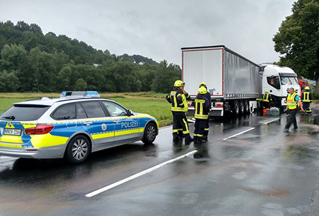
{"label": "firefighter standing closest to the police car's front, yellow helmet", "polygon": [[187,97],[189,97],[189,94],[184,90],[184,85],[185,83],[180,80],[175,81],[173,90],[166,95],[166,101],[171,103],[173,114],[173,141],[180,140],[178,128],[182,128],[185,142],[191,142],[193,138],[189,135],[189,124],[185,115],[188,110]]}

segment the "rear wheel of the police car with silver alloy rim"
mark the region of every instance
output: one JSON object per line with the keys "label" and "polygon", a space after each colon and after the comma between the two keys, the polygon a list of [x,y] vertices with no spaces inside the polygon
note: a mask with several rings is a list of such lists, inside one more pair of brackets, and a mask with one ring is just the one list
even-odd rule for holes
{"label": "rear wheel of the police car with silver alloy rim", "polygon": [[64,158],[69,163],[83,163],[89,157],[91,152],[91,144],[84,135],[76,135],[67,145]]}

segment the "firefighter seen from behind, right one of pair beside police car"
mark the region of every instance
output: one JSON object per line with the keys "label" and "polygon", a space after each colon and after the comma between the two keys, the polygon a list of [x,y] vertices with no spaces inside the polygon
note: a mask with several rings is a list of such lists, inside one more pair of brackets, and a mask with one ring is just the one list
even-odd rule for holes
{"label": "firefighter seen from behind, right one of pair beside police car", "polygon": [[204,86],[198,89],[198,94],[195,98],[193,105],[195,106],[195,131],[194,131],[194,141],[202,142],[205,131],[205,126],[207,123],[207,118],[209,117],[209,100],[205,97],[207,90]]}

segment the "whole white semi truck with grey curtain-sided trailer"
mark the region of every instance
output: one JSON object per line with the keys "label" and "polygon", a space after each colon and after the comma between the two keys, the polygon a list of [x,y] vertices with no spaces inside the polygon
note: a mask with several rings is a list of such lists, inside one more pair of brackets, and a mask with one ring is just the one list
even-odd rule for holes
{"label": "whole white semi truck with grey curtain-sided trailer", "polygon": [[[252,113],[259,107],[262,94],[268,90],[270,106],[284,108],[289,88],[300,94],[297,74],[288,67],[257,65],[225,47],[182,48],[182,81],[191,99],[195,99],[201,82],[212,94],[211,116]],[[189,103],[188,115],[194,109]]]}

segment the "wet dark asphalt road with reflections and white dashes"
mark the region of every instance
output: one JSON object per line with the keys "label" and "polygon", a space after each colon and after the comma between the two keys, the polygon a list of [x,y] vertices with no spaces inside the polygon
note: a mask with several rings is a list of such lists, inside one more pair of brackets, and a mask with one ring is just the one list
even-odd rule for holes
{"label": "wet dark asphalt road with reflections and white dashes", "polygon": [[200,145],[167,126],[82,165],[0,157],[0,215],[319,215],[319,107],[297,118],[288,133],[286,114],[213,119]]}

